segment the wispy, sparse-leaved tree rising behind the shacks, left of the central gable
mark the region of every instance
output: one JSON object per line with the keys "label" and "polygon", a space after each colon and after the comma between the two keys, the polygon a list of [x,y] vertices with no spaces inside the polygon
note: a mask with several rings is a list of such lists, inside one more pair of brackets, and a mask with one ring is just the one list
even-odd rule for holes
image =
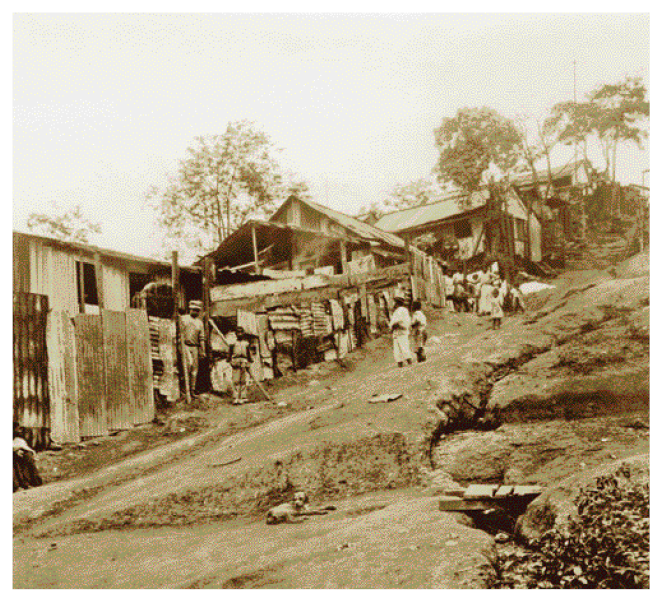
{"label": "wispy, sparse-leaved tree rising behind the shacks, left of the central gable", "polygon": [[283,193],[276,152],[250,121],[196,137],[168,185],[148,193],[168,236],[209,251],[249,217],[271,212]]}

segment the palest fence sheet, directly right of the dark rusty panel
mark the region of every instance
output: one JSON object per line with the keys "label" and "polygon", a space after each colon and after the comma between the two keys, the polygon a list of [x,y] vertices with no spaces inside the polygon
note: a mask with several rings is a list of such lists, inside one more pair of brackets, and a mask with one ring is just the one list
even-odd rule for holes
{"label": "palest fence sheet, directly right of the dark rusty panel", "polygon": [[46,326],[51,439],[57,443],[80,441],[76,392],[74,327],[66,311],[51,311]]}

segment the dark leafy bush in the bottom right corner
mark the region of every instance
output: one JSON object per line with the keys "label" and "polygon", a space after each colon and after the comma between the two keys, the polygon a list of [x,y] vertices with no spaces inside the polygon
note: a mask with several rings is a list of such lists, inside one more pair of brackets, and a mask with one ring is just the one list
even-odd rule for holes
{"label": "dark leafy bush in the bottom right corner", "polygon": [[[491,587],[634,589],[650,585],[650,489],[624,467],[575,500],[577,516],[547,531],[527,553],[495,562]],[[499,555],[501,556],[501,555]]]}

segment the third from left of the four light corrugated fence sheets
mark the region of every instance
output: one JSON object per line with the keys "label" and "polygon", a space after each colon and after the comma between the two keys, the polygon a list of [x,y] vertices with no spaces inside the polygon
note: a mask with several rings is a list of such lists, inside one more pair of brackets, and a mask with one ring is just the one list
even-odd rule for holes
{"label": "third from left of the four light corrugated fence sheets", "polygon": [[109,430],[133,427],[134,408],[129,390],[126,316],[121,311],[101,310],[106,367],[106,416]]}

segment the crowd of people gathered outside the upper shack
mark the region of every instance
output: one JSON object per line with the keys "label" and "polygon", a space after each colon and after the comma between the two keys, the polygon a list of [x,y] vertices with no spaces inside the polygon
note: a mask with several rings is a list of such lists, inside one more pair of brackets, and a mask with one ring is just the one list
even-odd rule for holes
{"label": "crowd of people gathered outside the upper shack", "polygon": [[446,299],[457,312],[489,316],[494,329],[501,327],[504,311],[524,311],[520,290],[501,279],[496,265],[466,276],[462,272],[446,276]]}

